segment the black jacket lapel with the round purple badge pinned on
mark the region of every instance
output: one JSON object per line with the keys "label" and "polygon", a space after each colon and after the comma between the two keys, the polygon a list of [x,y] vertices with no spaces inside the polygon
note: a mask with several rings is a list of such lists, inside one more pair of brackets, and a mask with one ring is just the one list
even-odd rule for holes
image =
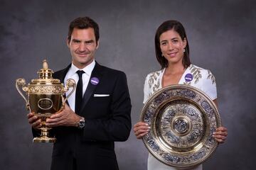
{"label": "black jacket lapel with the round purple badge pinned on", "polygon": [[100,78],[102,77],[102,66],[100,64],[95,63],[95,68],[92,70],[92,74],[89,80],[89,83],[87,85],[87,89],[85,90],[85,94],[82,97],[82,106],[80,109],[80,113],[85,108],[87,102],[89,101],[90,97],[92,96],[93,92],[95,91],[95,88],[97,84],[92,84],[92,78],[97,78],[98,84],[100,83]]}

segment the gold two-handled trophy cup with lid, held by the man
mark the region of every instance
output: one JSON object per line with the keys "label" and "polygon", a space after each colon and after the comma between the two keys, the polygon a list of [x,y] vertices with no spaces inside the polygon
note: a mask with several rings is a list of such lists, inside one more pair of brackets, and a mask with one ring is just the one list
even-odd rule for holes
{"label": "gold two-handled trophy cup with lid, held by the man", "polygon": [[[48,69],[46,60],[43,60],[43,69],[38,71],[39,79],[32,79],[31,83],[26,85],[25,79],[16,79],[16,89],[18,93],[26,101],[26,108],[31,113],[34,113],[41,119],[42,126],[41,136],[34,137],[33,142],[55,142],[55,137],[49,136],[49,130],[51,128],[46,126],[46,119],[54,113],[60,111],[63,108],[65,101],[75,91],[75,80],[68,79],[65,87],[60,83],[59,79],[53,79],[53,70]],[[25,91],[27,98],[20,90]],[[72,91],[66,98],[64,98],[65,92],[72,87]]]}

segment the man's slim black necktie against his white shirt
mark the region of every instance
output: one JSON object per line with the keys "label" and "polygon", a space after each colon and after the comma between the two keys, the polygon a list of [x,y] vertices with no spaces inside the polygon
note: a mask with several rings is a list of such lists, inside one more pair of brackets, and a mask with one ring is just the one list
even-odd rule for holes
{"label": "man's slim black necktie against his white shirt", "polygon": [[76,73],[78,74],[79,80],[75,91],[75,113],[79,114],[82,106],[82,74],[85,72],[78,70]]}

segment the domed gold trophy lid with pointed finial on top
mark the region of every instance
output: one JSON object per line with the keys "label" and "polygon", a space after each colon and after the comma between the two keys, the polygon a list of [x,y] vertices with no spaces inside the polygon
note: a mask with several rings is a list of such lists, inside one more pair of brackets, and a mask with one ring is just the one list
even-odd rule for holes
{"label": "domed gold trophy lid with pointed finial on top", "polygon": [[53,79],[53,70],[48,69],[48,63],[46,60],[43,60],[43,69],[40,69],[38,72],[39,79],[32,79],[32,84],[37,83],[50,83],[50,84],[60,84],[59,79]]}

